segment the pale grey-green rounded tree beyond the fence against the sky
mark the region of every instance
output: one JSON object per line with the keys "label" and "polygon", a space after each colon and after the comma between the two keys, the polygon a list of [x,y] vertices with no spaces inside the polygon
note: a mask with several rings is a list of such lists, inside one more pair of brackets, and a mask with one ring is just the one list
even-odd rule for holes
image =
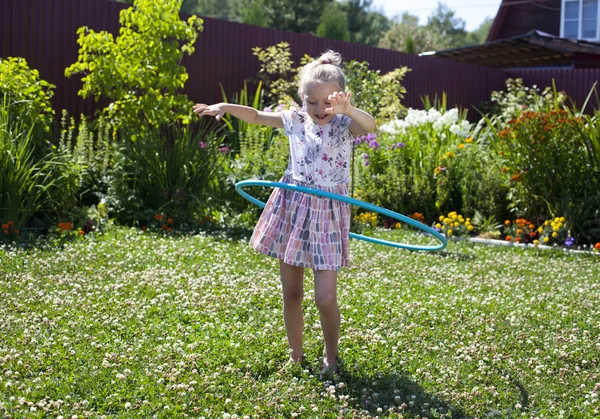
{"label": "pale grey-green rounded tree beyond the fence against the sky", "polygon": [[379,47],[411,54],[448,48],[447,38],[429,27],[419,26],[418,22],[417,16],[405,12],[383,35]]}

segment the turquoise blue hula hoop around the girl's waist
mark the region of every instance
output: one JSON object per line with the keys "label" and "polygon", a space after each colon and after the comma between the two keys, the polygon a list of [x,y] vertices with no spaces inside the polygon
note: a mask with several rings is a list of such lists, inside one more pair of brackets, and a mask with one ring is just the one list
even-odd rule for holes
{"label": "turquoise blue hula hoop around the girl's waist", "polygon": [[243,180],[241,182],[236,183],[235,190],[240,195],[242,195],[244,198],[246,198],[248,201],[259,206],[260,208],[264,208],[266,204],[262,201],[259,201],[256,198],[254,198],[253,196],[251,196],[250,194],[248,194],[246,191],[244,191],[242,189],[247,186],[267,186],[269,188],[282,188],[282,189],[287,189],[290,191],[298,191],[298,192],[308,193],[311,195],[321,196],[324,198],[331,198],[336,201],[346,202],[350,205],[356,205],[357,207],[364,208],[366,210],[373,211],[373,212],[376,212],[381,215],[386,215],[395,220],[402,221],[403,223],[406,223],[406,224],[410,224],[411,226],[416,227],[419,230],[422,230],[425,233],[428,233],[431,236],[435,237],[436,239],[438,239],[440,241],[440,244],[438,244],[436,246],[416,246],[416,245],[412,245],[412,244],[396,243],[396,242],[391,242],[388,240],[376,239],[374,237],[363,236],[362,234],[350,233],[350,237],[352,237],[353,239],[364,240],[364,241],[371,242],[371,243],[382,244],[384,246],[398,247],[401,249],[408,249],[408,250],[433,251],[433,250],[441,250],[448,245],[448,240],[446,240],[446,237],[444,237],[442,234],[440,234],[438,231],[434,230],[433,228],[428,227],[425,224],[420,223],[416,220],[413,220],[412,218],[409,218],[405,215],[398,214],[397,212],[394,212],[394,211],[391,211],[391,210],[388,210],[385,208],[381,208],[376,205],[369,204],[367,202],[359,201],[358,199],[349,198],[347,196],[338,195],[338,194],[334,194],[331,192],[322,191],[319,189],[307,188],[305,186],[293,185],[290,183],[283,183],[283,182],[272,182],[272,181],[268,181],[268,180]]}

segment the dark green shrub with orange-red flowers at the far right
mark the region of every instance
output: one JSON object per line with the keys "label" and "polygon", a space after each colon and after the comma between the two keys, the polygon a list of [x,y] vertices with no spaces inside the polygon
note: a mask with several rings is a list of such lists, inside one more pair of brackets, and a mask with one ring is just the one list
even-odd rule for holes
{"label": "dark green shrub with orange-red flowers at the far right", "polygon": [[586,165],[582,119],[564,110],[524,112],[497,131],[493,141],[510,207],[525,216],[564,214],[583,225],[581,208],[595,196]]}

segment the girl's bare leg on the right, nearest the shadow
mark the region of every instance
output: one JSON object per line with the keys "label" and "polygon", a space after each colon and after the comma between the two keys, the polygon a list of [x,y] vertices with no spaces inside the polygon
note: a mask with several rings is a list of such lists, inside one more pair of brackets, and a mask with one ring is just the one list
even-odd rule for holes
{"label": "girl's bare leg on the right, nearest the shadow", "polygon": [[337,271],[315,270],[315,303],[321,314],[325,338],[323,370],[338,372],[336,357],[340,338],[340,309],[337,304]]}

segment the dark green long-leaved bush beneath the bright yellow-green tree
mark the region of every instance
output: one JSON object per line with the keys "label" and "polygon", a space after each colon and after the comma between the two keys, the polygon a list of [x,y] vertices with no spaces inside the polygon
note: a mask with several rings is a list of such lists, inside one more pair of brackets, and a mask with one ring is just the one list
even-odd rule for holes
{"label": "dark green long-leaved bush beneath the bright yellow-green tree", "polygon": [[[210,212],[227,188],[223,179],[229,149],[213,127],[176,124],[144,127],[123,145],[125,160],[116,182],[117,218],[125,224],[165,214],[190,223]],[[127,137],[127,134],[125,134]]]}

